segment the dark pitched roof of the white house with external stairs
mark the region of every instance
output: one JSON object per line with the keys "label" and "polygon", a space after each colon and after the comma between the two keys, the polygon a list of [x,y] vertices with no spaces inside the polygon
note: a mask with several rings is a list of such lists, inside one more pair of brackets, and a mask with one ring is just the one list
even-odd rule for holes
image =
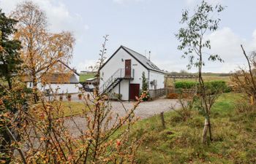
{"label": "dark pitched roof of the white house with external stairs", "polygon": [[[135,58],[135,60],[138,60],[138,62],[143,65],[146,69],[149,69],[151,71],[157,71],[160,73],[165,74],[164,71],[162,71],[161,69],[159,69],[154,63],[151,62],[151,60],[148,60],[148,58],[146,58],[146,56],[141,55],[138,52],[135,52],[134,50],[129,49],[128,47],[124,47],[123,45],[121,45],[118,50],[123,49],[124,51],[126,51],[129,55],[131,55],[133,58]],[[118,50],[116,50],[116,52],[118,52]],[[114,52],[114,54],[112,56],[110,56],[110,58],[108,58],[108,60],[102,65],[102,67],[105,66],[106,63],[108,63],[108,61],[113,58],[114,55],[116,55],[116,52]],[[101,68],[102,68],[101,67]]]}

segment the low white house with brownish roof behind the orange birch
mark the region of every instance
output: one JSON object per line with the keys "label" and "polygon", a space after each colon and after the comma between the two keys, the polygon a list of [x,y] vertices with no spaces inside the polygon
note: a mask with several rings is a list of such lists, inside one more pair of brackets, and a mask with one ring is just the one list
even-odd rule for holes
{"label": "low white house with brownish roof behind the orange birch", "polygon": [[[61,63],[66,71],[65,72],[55,72],[48,74],[45,76],[45,85],[42,84],[42,82],[37,83],[38,90],[42,92],[47,92],[47,90],[50,91],[50,93],[78,93],[79,87],[82,87],[82,85],[79,84],[79,74],[74,69],[71,69],[67,64],[61,62],[59,60],[59,63]],[[33,83],[29,76],[24,78],[24,82],[27,83],[27,87],[32,88]]]}

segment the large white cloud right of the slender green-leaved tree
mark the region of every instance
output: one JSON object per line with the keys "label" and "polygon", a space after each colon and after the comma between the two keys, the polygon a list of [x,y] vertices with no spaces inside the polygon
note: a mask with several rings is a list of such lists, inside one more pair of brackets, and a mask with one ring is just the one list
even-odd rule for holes
{"label": "large white cloud right of the slender green-leaved tree", "polygon": [[211,40],[211,52],[217,53],[225,60],[225,63],[212,64],[208,62],[210,63],[210,67],[212,66],[212,69],[219,70],[219,72],[229,72],[237,69],[238,66],[244,66],[246,60],[241,50],[241,44],[243,44],[248,54],[252,52],[252,50],[255,50],[255,34],[256,30],[252,34],[252,39],[244,39],[235,34],[231,28],[228,27],[219,29],[210,34],[208,39]]}

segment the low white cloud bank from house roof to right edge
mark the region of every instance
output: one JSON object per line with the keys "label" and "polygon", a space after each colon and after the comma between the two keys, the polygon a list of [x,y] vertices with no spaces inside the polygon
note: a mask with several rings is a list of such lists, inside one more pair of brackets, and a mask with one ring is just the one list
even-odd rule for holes
{"label": "low white cloud bank from house roof to right edge", "polygon": [[[203,67],[203,71],[228,73],[237,70],[240,66],[246,68],[246,59],[241,50],[241,44],[243,44],[248,55],[252,50],[256,50],[256,29],[252,31],[252,38],[250,39],[244,39],[242,36],[235,34],[232,29],[228,27],[220,28],[206,36],[206,39],[211,40],[211,50],[209,50],[208,53],[218,54],[225,62],[208,61],[208,55],[204,53],[206,66]],[[152,62],[159,66],[160,69],[167,71],[187,70],[186,66],[188,60],[187,58],[181,58],[181,53],[180,51],[173,52],[167,55],[165,59],[152,56]],[[189,71],[197,72],[197,69],[193,68]]]}

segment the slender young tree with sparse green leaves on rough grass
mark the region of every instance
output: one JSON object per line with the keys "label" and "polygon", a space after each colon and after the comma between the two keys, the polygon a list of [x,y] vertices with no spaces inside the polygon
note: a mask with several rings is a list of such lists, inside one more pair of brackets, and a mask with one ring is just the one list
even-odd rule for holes
{"label": "slender young tree with sparse green leaves on rough grass", "polygon": [[209,100],[206,95],[206,85],[203,81],[202,69],[205,65],[205,58],[212,61],[223,61],[219,55],[206,52],[206,50],[211,49],[210,40],[206,39],[206,34],[217,31],[220,22],[217,16],[223,9],[225,9],[225,7],[222,7],[220,4],[214,7],[206,1],[202,1],[200,5],[197,5],[193,15],[190,16],[189,11],[184,10],[180,22],[184,27],[180,28],[178,34],[176,34],[178,41],[181,42],[178,46],[178,50],[184,51],[184,55],[182,55],[183,58],[189,58],[188,69],[191,69],[193,66],[198,69],[198,80],[200,83],[200,106],[198,107],[205,117],[202,135],[203,143],[206,143],[208,132],[210,139],[212,139],[210,122],[212,104],[208,104]]}

